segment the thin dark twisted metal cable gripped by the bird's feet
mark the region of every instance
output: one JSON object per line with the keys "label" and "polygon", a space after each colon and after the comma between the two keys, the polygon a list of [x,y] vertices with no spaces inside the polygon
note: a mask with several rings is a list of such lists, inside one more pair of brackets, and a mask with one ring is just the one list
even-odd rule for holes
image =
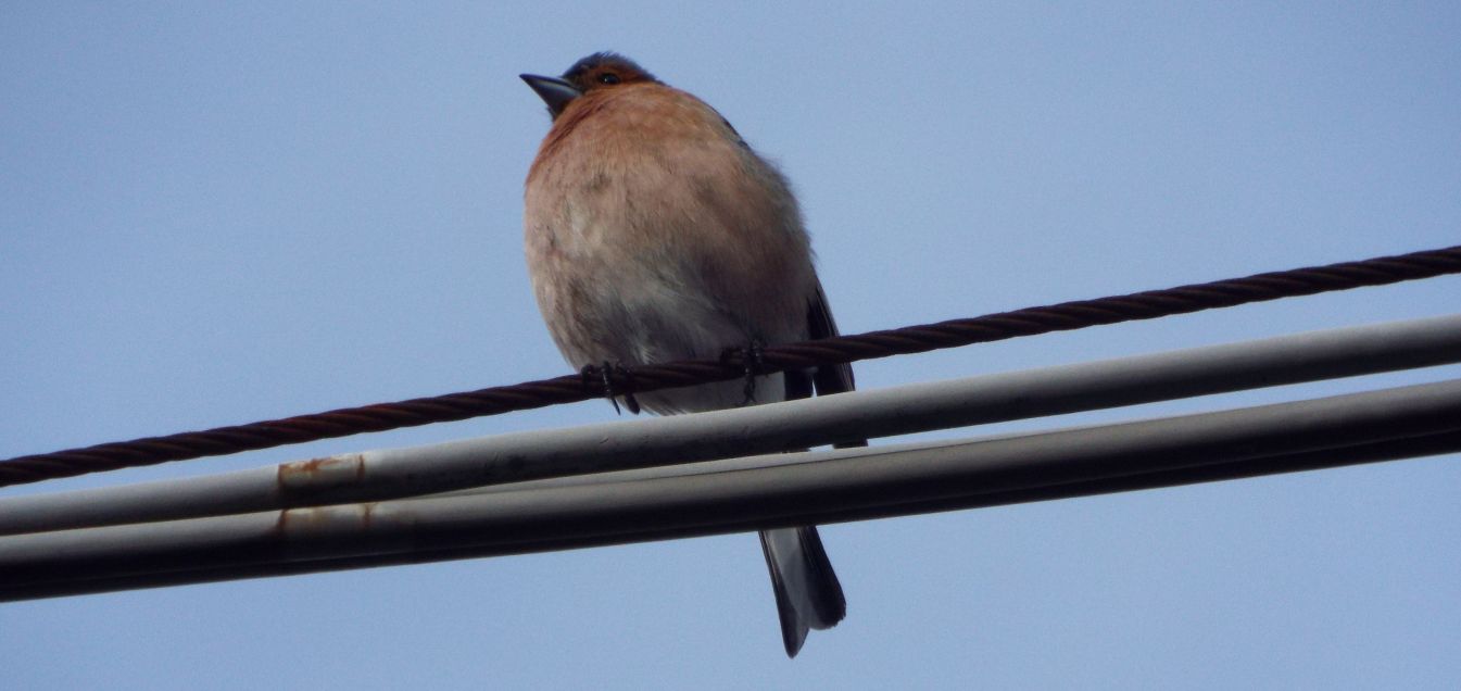
{"label": "thin dark twisted metal cable gripped by the bird's feet", "polygon": [[[1018,336],[1084,329],[1144,318],[1188,314],[1218,307],[1262,302],[1330,291],[1416,280],[1461,273],[1461,245],[1376,257],[1363,261],[1258,273],[1248,278],[1194,283],[1160,291],[1030,307],[983,317],[909,326],[855,336],[767,346],[755,364],[758,373],[855,362],[986,343]],[[251,422],[247,425],[117,441],[85,448],[19,456],[0,460],[0,486],[70,478],[101,470],[148,466],[169,460],[222,456],[256,448],[300,444],[359,432],[378,432],[431,422],[498,415],[557,403],[571,403],[612,393],[652,392],[687,384],[728,381],[745,375],[744,356],[679,361],[611,368],[602,377],[581,374],[476,392],[451,393],[397,403],[342,408],[313,415]]]}

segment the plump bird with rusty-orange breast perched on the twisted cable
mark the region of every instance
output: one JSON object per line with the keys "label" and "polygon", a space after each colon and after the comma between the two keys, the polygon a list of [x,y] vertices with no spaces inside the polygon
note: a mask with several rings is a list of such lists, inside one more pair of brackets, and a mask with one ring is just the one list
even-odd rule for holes
{"label": "plump bird with rusty-orange breast perched on the twisted cable", "polygon": [[[837,335],[786,178],[704,101],[596,53],[522,76],[552,129],[527,172],[527,269],[573,367],[719,358]],[[630,370],[633,371],[633,370]],[[671,415],[853,389],[849,365],[618,397]],[[855,443],[856,444],[856,443]],[[850,444],[849,444],[850,446]],[[761,532],[786,654],[846,615],[815,527]]]}

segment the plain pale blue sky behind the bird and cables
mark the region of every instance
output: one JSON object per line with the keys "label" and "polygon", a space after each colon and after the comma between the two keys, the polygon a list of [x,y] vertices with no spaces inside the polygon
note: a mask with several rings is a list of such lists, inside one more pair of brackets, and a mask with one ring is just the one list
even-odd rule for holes
{"label": "plain pale blue sky behind the bird and cables", "polygon": [[[1461,243],[1455,3],[22,3],[0,22],[0,457],[567,371],[522,259],[622,51],[801,194],[844,332]],[[1454,313],[1461,279],[861,365],[863,387]],[[947,435],[1205,411],[1442,368]],[[600,402],[23,489],[614,416]],[[1461,463],[0,605],[7,688],[1454,688]]]}

